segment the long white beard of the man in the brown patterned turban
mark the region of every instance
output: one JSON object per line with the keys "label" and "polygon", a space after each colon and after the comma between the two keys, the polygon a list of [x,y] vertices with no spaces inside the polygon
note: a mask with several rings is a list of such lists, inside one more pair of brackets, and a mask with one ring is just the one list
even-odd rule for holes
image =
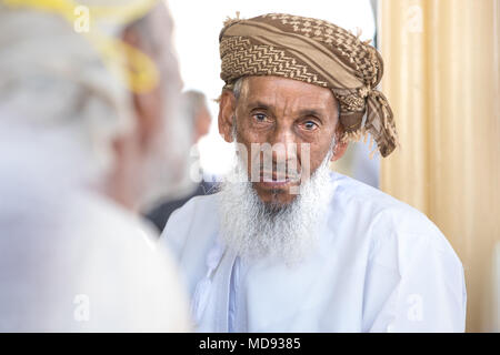
{"label": "long white beard of the man in the brown patterned turban", "polygon": [[287,264],[302,260],[317,243],[331,199],[330,158],[331,151],[302,182],[300,194],[279,210],[260,200],[238,160],[218,194],[222,242],[244,260],[273,257]]}

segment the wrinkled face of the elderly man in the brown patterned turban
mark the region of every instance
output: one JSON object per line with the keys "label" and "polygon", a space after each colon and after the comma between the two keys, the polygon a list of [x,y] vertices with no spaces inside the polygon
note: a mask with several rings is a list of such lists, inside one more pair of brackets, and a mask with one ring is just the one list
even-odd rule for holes
{"label": "wrinkled face of the elderly man in the brown patterned turban", "polygon": [[[239,99],[231,97],[222,95],[221,133],[230,141],[228,134],[236,122],[237,141],[248,152],[248,174],[257,194],[264,203],[289,204],[297,196],[293,191],[301,180],[294,179],[288,168],[297,166],[292,171],[302,171],[303,179],[307,168],[312,174],[321,164],[338,132],[337,100],[329,89],[278,77],[249,77],[243,81]],[[263,163],[263,154],[252,150],[252,143],[281,148],[272,150],[272,172],[266,171],[269,169]],[[252,176],[252,169],[260,170],[258,181]],[[264,179],[266,174],[272,179]]]}

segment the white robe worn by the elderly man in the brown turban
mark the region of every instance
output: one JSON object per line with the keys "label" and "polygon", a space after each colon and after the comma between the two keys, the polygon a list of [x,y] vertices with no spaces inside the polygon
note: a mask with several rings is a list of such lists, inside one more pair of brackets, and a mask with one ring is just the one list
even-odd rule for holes
{"label": "white robe worn by the elderly man in the brown turban", "polygon": [[331,183],[319,245],[294,266],[241,260],[232,277],[237,255],[219,242],[217,194],[172,214],[162,241],[189,285],[197,331],[464,331],[463,268],[440,231],[356,180],[332,173]]}

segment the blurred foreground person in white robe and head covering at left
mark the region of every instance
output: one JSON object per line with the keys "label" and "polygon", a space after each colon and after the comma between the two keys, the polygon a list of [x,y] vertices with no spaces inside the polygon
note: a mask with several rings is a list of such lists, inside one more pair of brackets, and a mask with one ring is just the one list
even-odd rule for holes
{"label": "blurred foreground person in white robe and head covering at left", "polygon": [[[168,9],[114,1],[152,6],[103,22],[118,47],[102,48],[64,19],[72,8],[18,2],[0,1],[0,332],[189,331],[173,261],[138,215],[174,183],[186,139]],[[132,92],[120,79],[140,53],[158,78]]]}

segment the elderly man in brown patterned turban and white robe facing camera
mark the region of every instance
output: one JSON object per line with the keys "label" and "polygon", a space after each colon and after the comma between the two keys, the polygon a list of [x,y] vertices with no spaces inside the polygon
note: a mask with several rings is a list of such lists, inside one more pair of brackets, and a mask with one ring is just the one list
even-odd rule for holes
{"label": "elderly man in brown patterned turban and white robe facing camera", "polygon": [[[383,156],[397,145],[374,89],[379,53],[334,24],[277,13],[230,20],[220,53],[219,131],[238,142],[238,165],[162,235],[197,329],[462,332],[463,270],[446,237],[412,207],[328,169],[368,132]],[[286,149],[266,154],[266,143]],[[271,163],[259,164],[266,155]]]}

